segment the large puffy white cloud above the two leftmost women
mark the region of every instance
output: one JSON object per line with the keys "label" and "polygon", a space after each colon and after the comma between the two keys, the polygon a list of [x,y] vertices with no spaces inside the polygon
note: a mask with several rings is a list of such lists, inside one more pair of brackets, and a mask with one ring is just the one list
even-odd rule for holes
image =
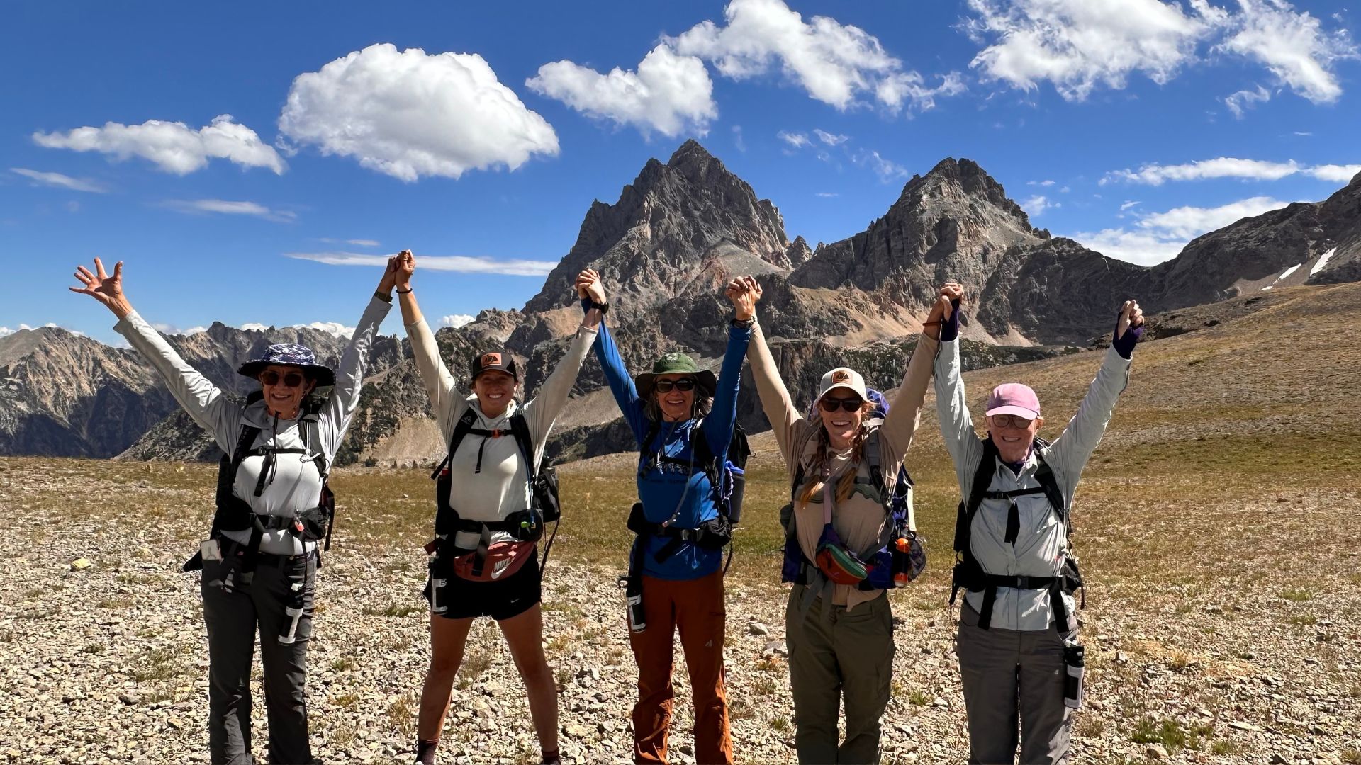
{"label": "large puffy white cloud above the two leftmost women", "polygon": [[476,53],[370,45],[293,80],[279,131],[327,155],[415,181],[510,170],[558,154],[558,135]]}

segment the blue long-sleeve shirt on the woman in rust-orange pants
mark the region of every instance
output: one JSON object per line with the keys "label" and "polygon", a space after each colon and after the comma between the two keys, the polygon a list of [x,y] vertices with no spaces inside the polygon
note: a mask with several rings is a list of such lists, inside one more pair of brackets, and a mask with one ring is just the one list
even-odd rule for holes
{"label": "blue long-sleeve shirt on the woman in rust-orange pants", "polygon": [[[700,430],[708,440],[709,452],[721,460],[728,452],[732,441],[732,427],[738,419],[738,387],[742,380],[742,361],[747,354],[747,343],[751,340],[751,329],[732,327],[728,329],[728,348],[723,355],[723,369],[719,372],[717,389],[713,395],[713,408],[704,418],[704,427]],[[642,510],[652,523],[663,523],[672,515],[676,528],[695,528],[701,523],[717,517],[719,508],[713,501],[713,485],[702,466],[686,471],[683,466],[663,464],[651,459],[657,453],[675,460],[689,463],[694,455],[691,438],[698,419],[686,422],[657,423],[656,437],[651,444],[644,444],[648,433],[655,425],[644,410],[644,400],[638,397],[638,391],[633,385],[633,377],[619,358],[619,348],[614,344],[610,329],[600,324],[600,332],[595,342],[596,358],[604,369],[604,377],[610,382],[619,411],[633,430],[633,440],[638,444],[638,498],[642,501]],[[646,452],[644,455],[642,452]],[[648,470],[642,470],[646,467]],[[723,564],[723,550],[702,550],[690,542],[683,542],[674,555],[664,562],[657,562],[655,554],[670,539],[649,536],[644,540],[642,573],[666,580],[690,580],[708,576]]]}

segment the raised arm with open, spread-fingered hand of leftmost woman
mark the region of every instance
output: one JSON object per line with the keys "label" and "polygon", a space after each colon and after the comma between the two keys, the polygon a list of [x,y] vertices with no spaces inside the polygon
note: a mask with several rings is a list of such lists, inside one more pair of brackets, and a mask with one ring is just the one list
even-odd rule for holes
{"label": "raised arm with open, spread-fingered hand of leftmost woman", "polygon": [[94,259],[94,274],[83,265],[76,267],[76,279],[82,287],[71,287],[72,293],[90,295],[105,305],[118,323],[114,332],[127,338],[128,343],[151,363],[170,395],[189,412],[212,440],[227,453],[235,449],[237,432],[241,425],[241,406],[222,395],[222,391],[199,370],[185,363],[184,358],[166,343],[159,332],[151,328],[132,308],[132,301],[122,291],[122,261],[113,267],[110,276],[103,263]]}

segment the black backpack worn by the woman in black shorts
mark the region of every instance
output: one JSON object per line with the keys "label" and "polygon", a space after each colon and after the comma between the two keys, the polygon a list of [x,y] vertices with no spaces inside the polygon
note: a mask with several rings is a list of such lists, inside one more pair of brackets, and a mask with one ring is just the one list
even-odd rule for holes
{"label": "black backpack worn by the woman in black shorts", "polygon": [[[499,438],[506,434],[502,430],[474,427],[476,422],[478,412],[472,407],[468,407],[453,426],[453,434],[449,437],[449,452],[436,466],[434,472],[430,474],[430,478],[436,481],[436,540],[427,544],[427,547],[437,546],[441,536],[452,539],[459,531],[482,534],[485,536],[491,532],[504,531],[520,542],[538,542],[543,538],[543,527],[551,523],[554,524],[553,534],[548,536],[548,543],[543,547],[542,570],[548,564],[548,551],[553,550],[553,540],[558,536],[558,523],[562,517],[562,505],[558,498],[558,471],[553,466],[535,464],[534,438],[529,436],[529,423],[520,408],[516,408],[516,412],[510,415],[509,434],[516,440],[520,456],[524,459],[525,474],[529,476],[529,506],[524,510],[510,513],[505,520],[483,523],[460,519],[457,510],[449,505],[449,487],[453,482],[453,476],[449,472],[449,463],[453,460],[453,455],[459,451],[463,440],[468,436],[483,437],[482,444],[478,445],[478,464],[474,470],[474,472],[482,472],[482,451],[486,448],[486,440]],[[434,550],[431,549],[430,551]],[[482,574],[485,551],[480,553],[474,561],[474,576]]]}

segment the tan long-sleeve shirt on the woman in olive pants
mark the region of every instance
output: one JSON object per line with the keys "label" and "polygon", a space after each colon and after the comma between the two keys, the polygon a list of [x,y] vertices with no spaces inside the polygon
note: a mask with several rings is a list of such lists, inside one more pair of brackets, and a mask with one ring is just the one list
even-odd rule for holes
{"label": "tan long-sleeve shirt on the woman in olive pants", "polygon": [[[902,377],[902,387],[893,402],[890,402],[889,417],[879,429],[881,460],[885,481],[893,481],[902,467],[902,460],[912,445],[912,437],[921,419],[921,404],[925,400],[927,384],[931,381],[931,362],[936,351],[936,342],[921,336],[908,372]],[[780,453],[784,455],[788,467],[788,481],[792,485],[799,466],[803,466],[804,481],[817,478],[817,449],[818,430],[821,421],[808,421],[803,411],[793,406],[789,391],[780,378],[780,370],[770,347],[765,342],[765,335],[757,327],[751,335],[751,344],[747,348],[747,361],[751,362],[751,374],[757,382],[757,393],[761,396],[761,408],[765,410],[766,419],[774,429],[776,441],[780,444]],[[851,449],[830,455],[830,481],[836,482],[847,470],[856,470],[862,478],[870,476],[870,464],[860,461],[851,464]],[[802,489],[802,487],[800,487]],[[800,491],[802,493],[802,491]],[[817,553],[818,539],[822,536],[822,498],[813,497],[813,501],[803,502],[795,497],[793,521],[799,547],[807,559],[813,559]],[[889,523],[883,512],[883,505],[878,498],[866,497],[862,493],[852,493],[844,502],[837,502],[832,513],[832,527],[853,551],[863,551],[874,544],[883,534],[885,524]],[[837,606],[847,606],[847,610],[857,604],[878,598],[882,589],[863,591],[851,585],[837,584],[832,593],[832,602]]]}

